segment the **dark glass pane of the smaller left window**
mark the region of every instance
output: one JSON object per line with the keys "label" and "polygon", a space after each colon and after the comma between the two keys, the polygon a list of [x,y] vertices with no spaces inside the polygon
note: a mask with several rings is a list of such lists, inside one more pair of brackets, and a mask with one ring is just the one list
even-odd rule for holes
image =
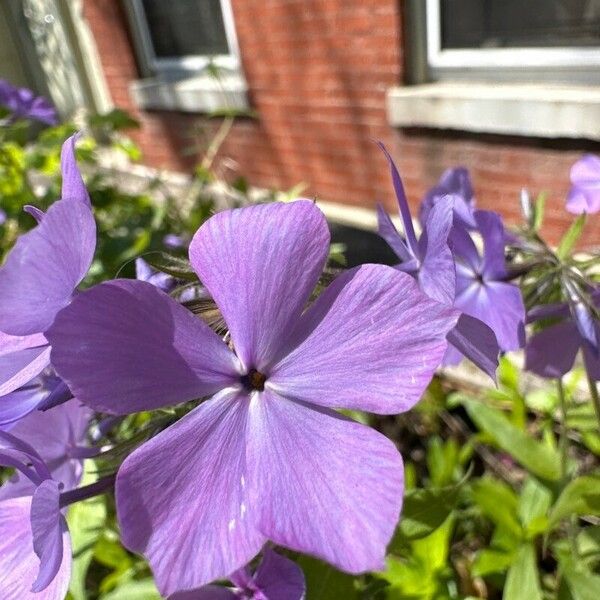
{"label": "dark glass pane of the smaller left window", "polygon": [[220,0],[142,0],[157,58],[229,54]]}

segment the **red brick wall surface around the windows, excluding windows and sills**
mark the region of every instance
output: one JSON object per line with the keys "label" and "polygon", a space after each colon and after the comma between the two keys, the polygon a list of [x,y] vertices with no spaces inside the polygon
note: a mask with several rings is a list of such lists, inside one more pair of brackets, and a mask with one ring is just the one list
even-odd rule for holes
{"label": "red brick wall surface around the windows, excluding windows and sills", "polygon": [[[447,131],[396,131],[387,124],[385,92],[403,76],[402,11],[397,0],[231,0],[256,120],[240,120],[223,146],[251,183],[289,188],[351,205],[382,200],[394,210],[385,161],[397,158],[415,203],[441,172],[464,164],[479,206],[518,218],[518,192],[548,190],[547,233],[556,241],[569,167],[591,142],[533,140]],[[217,123],[166,112],[140,114],[128,94],[138,77],[120,0],[86,0],[115,103],[143,123],[136,134],[146,162],[187,170]],[[587,243],[600,243],[600,219]]]}

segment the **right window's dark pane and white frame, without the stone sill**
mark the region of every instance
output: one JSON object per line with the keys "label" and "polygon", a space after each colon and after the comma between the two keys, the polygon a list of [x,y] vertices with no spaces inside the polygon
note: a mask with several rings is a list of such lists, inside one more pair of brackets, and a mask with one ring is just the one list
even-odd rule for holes
{"label": "right window's dark pane and white frame, without the stone sill", "polygon": [[600,83],[600,0],[426,0],[415,20],[421,79]]}

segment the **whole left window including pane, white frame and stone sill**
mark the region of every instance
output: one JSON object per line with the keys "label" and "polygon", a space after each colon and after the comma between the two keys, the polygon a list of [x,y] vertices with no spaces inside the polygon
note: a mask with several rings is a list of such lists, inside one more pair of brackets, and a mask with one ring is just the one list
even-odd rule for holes
{"label": "whole left window including pane, white frame and stone sill", "polygon": [[144,76],[131,84],[140,108],[247,111],[230,0],[123,1]]}

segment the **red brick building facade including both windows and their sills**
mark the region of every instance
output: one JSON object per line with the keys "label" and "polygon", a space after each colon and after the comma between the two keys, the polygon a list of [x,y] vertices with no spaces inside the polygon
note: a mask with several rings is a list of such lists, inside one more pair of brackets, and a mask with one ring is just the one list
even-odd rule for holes
{"label": "red brick building facade including both windows and their sills", "polygon": [[[235,111],[248,116],[220,155],[253,185],[303,182],[306,196],[394,211],[381,140],[415,205],[454,165],[469,168],[478,205],[510,222],[521,188],[547,191],[556,242],[571,220],[569,168],[600,153],[600,2],[543,4],[82,0],[80,11],[151,166],[189,171],[222,123],[215,111]],[[342,213],[359,225],[367,214]],[[600,244],[597,221],[588,245]]]}

